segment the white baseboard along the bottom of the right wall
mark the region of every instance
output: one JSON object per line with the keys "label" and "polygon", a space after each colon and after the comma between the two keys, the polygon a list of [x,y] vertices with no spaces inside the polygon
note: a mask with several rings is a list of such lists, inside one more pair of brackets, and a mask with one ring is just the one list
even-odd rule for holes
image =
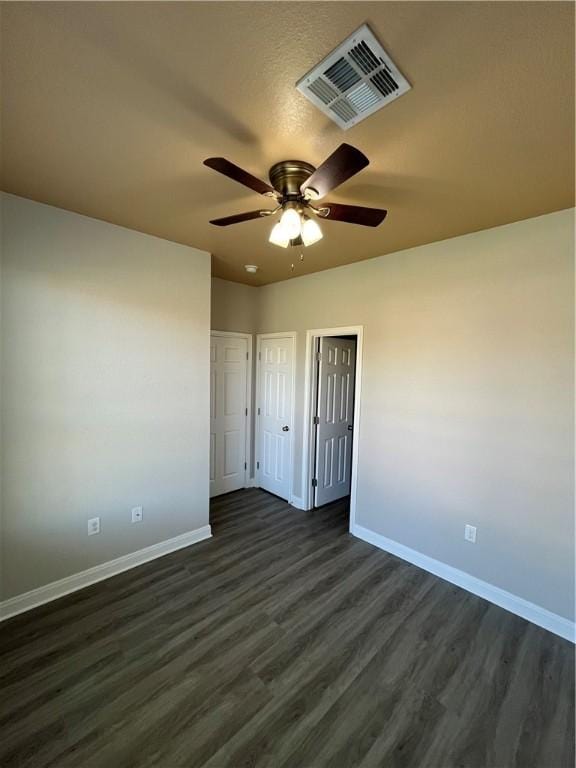
{"label": "white baseboard along the bottom of the right wall", "polygon": [[556,613],[541,608],[535,603],[531,603],[528,600],[524,600],[523,597],[513,595],[511,592],[506,592],[500,587],[495,587],[493,584],[489,584],[487,581],[477,579],[475,576],[471,576],[469,573],[453,568],[451,565],[446,565],[435,560],[432,557],[423,555],[421,552],[417,552],[415,549],[405,547],[403,544],[399,544],[397,541],[387,539],[385,536],[381,536],[379,533],[368,528],[363,528],[361,525],[352,525],[350,533],[357,536],[359,539],[374,544],[379,549],[383,549],[385,552],[389,552],[392,555],[407,560],[409,563],[422,568],[429,573],[433,573],[435,576],[439,576],[445,581],[449,581],[451,584],[456,584],[462,589],[466,589],[468,592],[472,592],[478,597],[483,597],[494,605],[500,606],[511,613],[515,613],[517,616],[521,616],[527,621],[531,621],[533,624],[537,624],[539,627],[547,629],[549,632],[553,632],[555,635],[576,642],[576,627],[573,621],[565,619],[563,616],[559,616]]}

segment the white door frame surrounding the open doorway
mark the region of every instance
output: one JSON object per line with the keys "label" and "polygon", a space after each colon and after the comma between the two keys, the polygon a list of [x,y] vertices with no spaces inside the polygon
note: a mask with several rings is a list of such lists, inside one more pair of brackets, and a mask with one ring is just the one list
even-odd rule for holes
{"label": "white door frame surrounding the open doorway", "polygon": [[302,501],[305,510],[313,508],[312,478],[314,477],[313,406],[317,373],[315,365],[316,340],[323,336],[356,336],[356,373],[354,376],[354,432],[352,437],[352,471],[350,480],[350,530],[356,522],[356,494],[358,490],[358,436],[360,434],[360,403],[362,397],[362,362],[364,326],[347,325],[336,328],[314,328],[306,331],[306,357],[304,369],[304,424],[302,429]]}

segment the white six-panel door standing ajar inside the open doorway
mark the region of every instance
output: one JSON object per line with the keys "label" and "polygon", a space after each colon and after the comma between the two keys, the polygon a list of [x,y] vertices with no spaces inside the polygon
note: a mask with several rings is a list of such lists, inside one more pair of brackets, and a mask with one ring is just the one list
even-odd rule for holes
{"label": "white six-panel door standing ajar inside the open doorway", "polygon": [[314,506],[350,493],[356,342],[322,337],[318,363]]}

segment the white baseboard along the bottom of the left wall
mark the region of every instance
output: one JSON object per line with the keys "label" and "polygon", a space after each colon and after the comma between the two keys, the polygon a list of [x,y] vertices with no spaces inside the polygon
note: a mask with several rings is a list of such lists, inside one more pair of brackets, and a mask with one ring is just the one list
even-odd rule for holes
{"label": "white baseboard along the bottom of the left wall", "polygon": [[39,605],[44,605],[44,603],[50,603],[52,600],[69,595],[71,592],[77,592],[79,589],[96,584],[98,581],[109,579],[110,576],[115,576],[117,573],[136,568],[136,566],[155,560],[157,557],[168,555],[170,552],[176,552],[178,549],[184,549],[191,544],[209,539],[211,536],[212,529],[209,525],[205,525],[194,531],[175,536],[173,539],[152,544],[150,547],[139,549],[129,555],[123,555],[72,576],[66,576],[59,581],[53,581],[44,587],[38,587],[38,589],[33,589],[30,592],[24,592],[22,595],[11,597],[0,603],[0,621],[17,616],[19,613],[24,613]]}

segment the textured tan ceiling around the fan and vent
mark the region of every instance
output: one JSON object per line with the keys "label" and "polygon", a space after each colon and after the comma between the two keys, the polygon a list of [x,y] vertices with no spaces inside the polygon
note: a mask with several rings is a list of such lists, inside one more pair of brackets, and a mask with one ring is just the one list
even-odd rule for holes
{"label": "textured tan ceiling around the fan and vent", "polygon": [[[294,85],[365,21],[413,89],[343,132]],[[572,3],[4,3],[2,78],[3,189],[254,285],[574,205]],[[342,141],[371,164],[330,198],[388,208],[378,229],[326,222],[300,262],[270,221],[208,224],[266,200],[204,158],[266,179]]]}

